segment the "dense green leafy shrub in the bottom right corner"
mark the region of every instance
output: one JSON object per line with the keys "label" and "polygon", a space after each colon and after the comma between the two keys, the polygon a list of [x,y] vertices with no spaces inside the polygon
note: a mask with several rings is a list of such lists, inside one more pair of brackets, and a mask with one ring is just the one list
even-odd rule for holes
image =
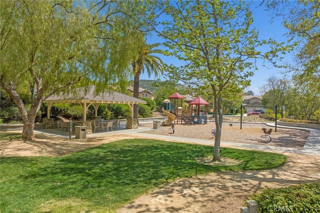
{"label": "dense green leafy shrub in the bottom right corner", "polygon": [[260,212],[320,212],[320,182],[266,188],[250,198],[258,203]]}

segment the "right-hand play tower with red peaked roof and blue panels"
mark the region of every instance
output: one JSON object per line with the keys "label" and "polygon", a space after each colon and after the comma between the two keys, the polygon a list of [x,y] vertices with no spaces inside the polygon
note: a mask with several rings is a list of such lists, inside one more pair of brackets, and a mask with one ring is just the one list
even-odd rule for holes
{"label": "right-hand play tower with red peaked roof and blue panels", "polygon": [[[189,105],[191,105],[191,109],[194,107],[194,113],[191,116],[192,122],[195,124],[201,124],[203,119],[203,124],[206,124],[206,116],[207,116],[207,105],[209,105],[208,102],[203,100],[200,96],[197,96],[194,100],[189,102]],[[200,106],[204,106],[204,111],[200,109]]]}

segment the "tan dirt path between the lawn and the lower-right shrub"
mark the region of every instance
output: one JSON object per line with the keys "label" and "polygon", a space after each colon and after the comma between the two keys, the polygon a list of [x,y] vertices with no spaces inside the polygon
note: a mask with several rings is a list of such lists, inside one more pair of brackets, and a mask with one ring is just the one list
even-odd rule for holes
{"label": "tan dirt path between the lawn and the lower-right shrub", "polygon": [[118,209],[124,212],[236,212],[260,188],[320,180],[320,157],[286,154],[287,162],[262,171],[221,172],[178,179]]}

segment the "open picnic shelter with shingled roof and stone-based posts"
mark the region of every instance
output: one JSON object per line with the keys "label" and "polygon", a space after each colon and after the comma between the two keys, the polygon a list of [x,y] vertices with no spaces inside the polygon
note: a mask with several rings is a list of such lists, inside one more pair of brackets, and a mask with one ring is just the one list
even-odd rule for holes
{"label": "open picnic shelter with shingled roof and stone-based posts", "polygon": [[[116,91],[109,91],[106,90],[105,92],[95,93],[95,86],[90,85],[88,88],[80,87],[77,89],[75,94],[68,93],[68,94],[58,94],[58,95],[51,95],[46,98],[43,102],[48,104],[47,106],[47,122],[50,122],[50,109],[54,103],[79,103],[83,107],[83,120],[81,121],[80,125],[85,125],[88,128],[91,125],[91,121],[86,121],[86,111],[90,105],[93,105],[95,110],[95,116],[97,116],[97,108],[102,103],[113,103],[113,104],[127,104],[131,109],[131,125],[132,127],[127,128],[137,128],[137,120],[136,125],[133,121],[133,104],[146,104],[145,100],[141,100],[139,98],[135,98],[129,95],[122,94]],[[51,118],[53,119],[53,118]],[[54,124],[54,123],[53,123]]]}

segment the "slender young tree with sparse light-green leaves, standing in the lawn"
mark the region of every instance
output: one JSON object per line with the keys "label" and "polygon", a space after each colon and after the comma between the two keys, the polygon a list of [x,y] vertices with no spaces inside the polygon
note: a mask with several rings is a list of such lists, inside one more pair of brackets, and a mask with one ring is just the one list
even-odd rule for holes
{"label": "slender young tree with sparse light-green leaves, standing in the lawn", "polygon": [[[171,65],[168,76],[213,97],[216,134],[212,160],[219,161],[222,100],[242,93],[257,58],[278,56],[277,43],[258,39],[257,31],[250,27],[253,19],[245,2],[167,1],[164,7],[170,17],[158,23],[163,25],[162,31],[156,24],[154,30],[166,39],[167,54],[185,61],[180,67]],[[271,43],[265,54],[256,50]]]}

